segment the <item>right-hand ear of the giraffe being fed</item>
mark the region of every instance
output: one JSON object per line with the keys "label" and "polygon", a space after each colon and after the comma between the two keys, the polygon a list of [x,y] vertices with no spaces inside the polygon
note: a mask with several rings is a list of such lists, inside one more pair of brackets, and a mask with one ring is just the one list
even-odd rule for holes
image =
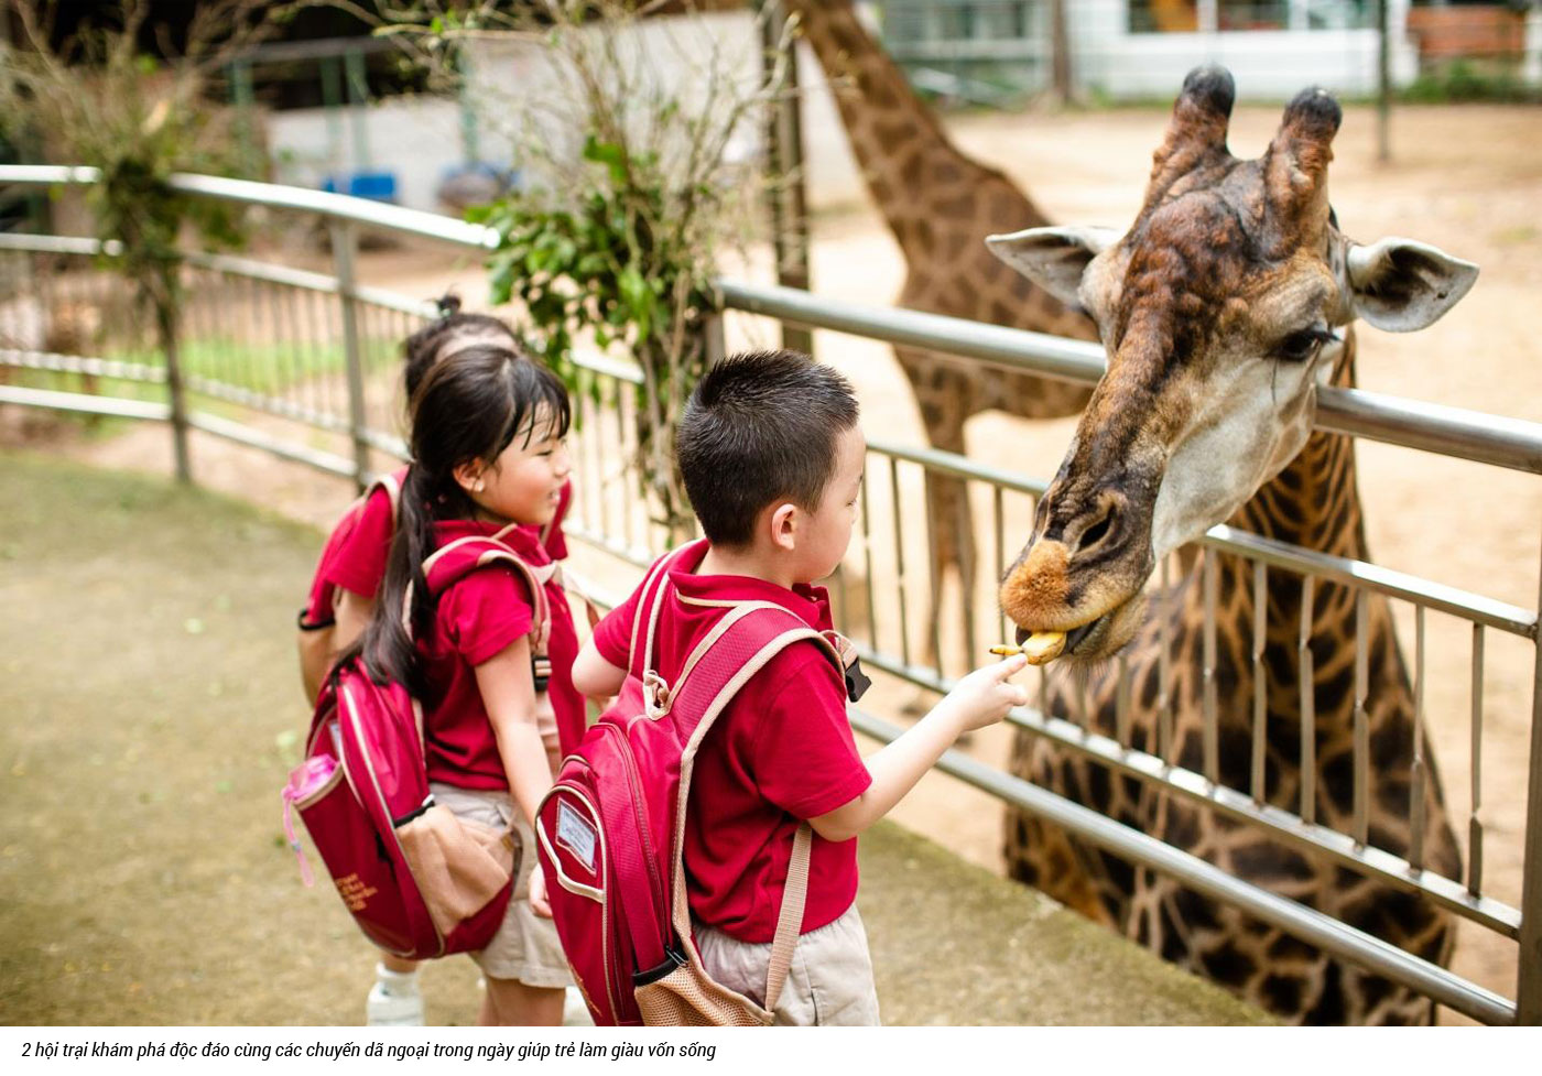
{"label": "right-hand ear of the giraffe being fed", "polygon": [[1389,333],[1431,325],[1477,281],[1477,265],[1412,239],[1352,245],[1345,256],[1354,311]]}

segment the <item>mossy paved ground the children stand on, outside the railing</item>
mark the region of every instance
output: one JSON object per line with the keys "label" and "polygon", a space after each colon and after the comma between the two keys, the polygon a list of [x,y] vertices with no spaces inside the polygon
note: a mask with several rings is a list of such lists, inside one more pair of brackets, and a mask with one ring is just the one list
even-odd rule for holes
{"label": "mossy paved ground the children stand on, outside the railing", "polygon": [[[279,811],[321,535],[37,455],[0,472],[0,1022],[359,1024],[373,956]],[[862,871],[890,1024],[1263,1019],[894,826]],[[424,993],[473,1022],[469,960]]]}

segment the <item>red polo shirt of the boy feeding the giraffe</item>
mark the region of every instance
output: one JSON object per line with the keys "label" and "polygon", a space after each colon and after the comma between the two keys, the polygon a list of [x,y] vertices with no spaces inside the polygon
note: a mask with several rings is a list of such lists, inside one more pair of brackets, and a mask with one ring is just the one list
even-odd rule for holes
{"label": "red polo shirt of the boy feeding the giraffe", "polygon": [[[669,683],[723,606],[774,601],[810,627],[830,629],[823,587],[794,590],[740,575],[695,575],[700,555],[671,572],[675,592],[658,615],[655,671]],[[595,627],[600,655],[626,667],[634,592]],[[641,647],[641,640],[638,647]],[[697,752],[686,809],[691,913],[742,942],[769,942],[782,906],[799,820],[827,814],[871,785],[847,721],[847,689],[813,643],[794,643],[739,689]],[[857,842],[814,834],[800,933],[837,919],[857,894]]]}

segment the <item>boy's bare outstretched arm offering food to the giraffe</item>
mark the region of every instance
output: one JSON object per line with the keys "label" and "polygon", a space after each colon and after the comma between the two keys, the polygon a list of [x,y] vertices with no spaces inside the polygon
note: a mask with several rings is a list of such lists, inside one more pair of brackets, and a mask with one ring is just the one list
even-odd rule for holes
{"label": "boy's bare outstretched arm offering food to the giraffe", "polygon": [[814,832],[825,840],[851,840],[888,814],[962,734],[995,725],[1013,706],[1027,704],[1029,692],[1008,680],[1027,663],[1018,654],[959,680],[930,714],[865,760],[873,783],[834,811],[810,819]]}

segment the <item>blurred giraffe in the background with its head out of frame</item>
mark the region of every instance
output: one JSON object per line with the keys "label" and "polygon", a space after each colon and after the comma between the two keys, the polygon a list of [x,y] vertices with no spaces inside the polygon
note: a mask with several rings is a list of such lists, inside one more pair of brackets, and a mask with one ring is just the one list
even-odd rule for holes
{"label": "blurred giraffe in the background with its head out of frame", "polygon": [[[1056,336],[1096,339],[1092,321],[990,256],[979,236],[1042,227],[1039,208],[1001,171],[953,145],[938,117],[910,89],[888,52],[864,29],[848,0],[788,0],[799,31],[831,82],[842,125],[868,194],[905,257],[899,305]],[[1086,385],[961,362],[894,345],[921,410],[927,441],[965,455],[964,422],[978,412],[1059,418],[1079,412]],[[958,570],[964,615],[971,615],[976,544],[964,486],[927,475],[931,615],[944,575]],[[930,635],[927,641],[930,652]],[[941,655],[930,655],[941,669]]]}

